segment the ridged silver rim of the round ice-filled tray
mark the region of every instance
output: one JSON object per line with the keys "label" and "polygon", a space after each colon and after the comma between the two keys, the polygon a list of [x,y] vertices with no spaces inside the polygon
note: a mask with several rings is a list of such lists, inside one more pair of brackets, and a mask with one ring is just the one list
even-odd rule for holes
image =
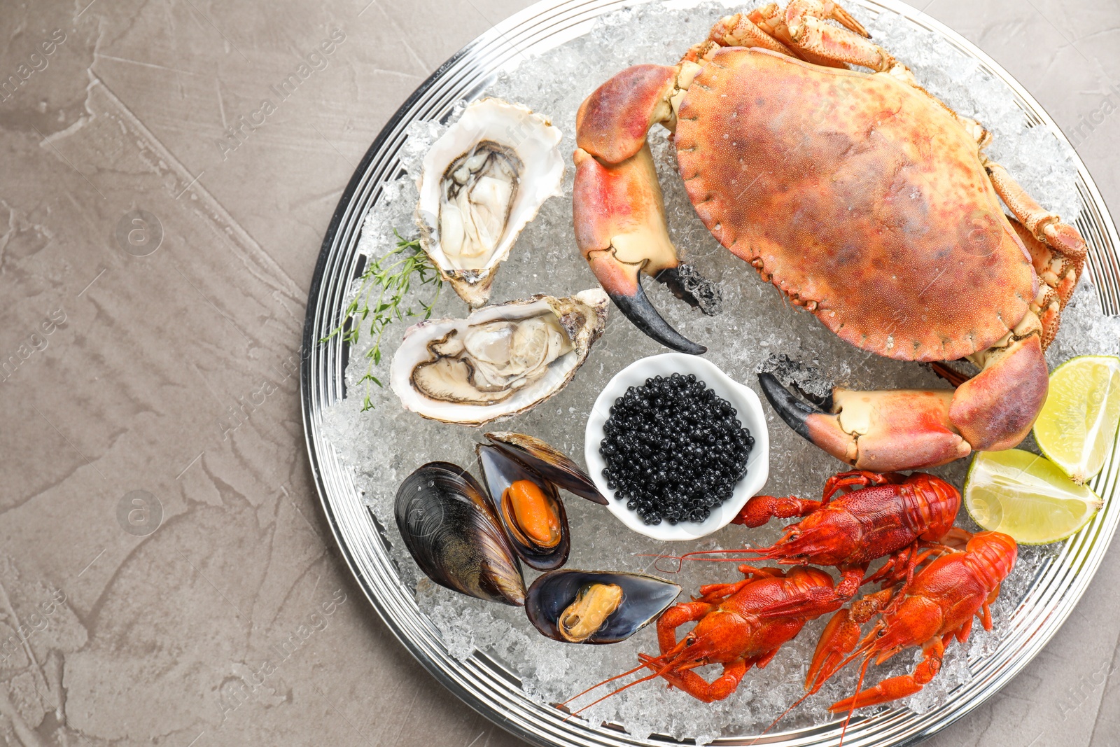
{"label": "ridged silver rim of the round ice-filled tray", "polygon": [[[460,63],[470,62],[473,55],[482,55],[489,46],[502,41],[505,41],[507,45],[516,48],[514,31],[519,29],[523,30],[523,27],[528,21],[545,13],[551,13],[549,18],[554,20],[563,12],[590,8],[595,11],[595,15],[588,19],[589,21],[594,19],[594,17],[612,10],[631,6],[646,4],[655,1],[656,0],[541,0],[540,2],[536,2],[497,24],[489,31],[476,38],[440,65],[431,75],[428,76],[427,80],[423,81],[423,83],[421,83],[420,86],[416,88],[416,91],[412,92],[412,94],[410,94],[396,112],[393,113],[351,176],[345,190],[339,197],[338,205],[332,215],[330,223],[324,236],[320,252],[316,261],[311,286],[308,292],[308,305],[305,317],[302,344],[300,348],[301,414],[308,448],[308,458],[311,473],[315,477],[316,491],[319,495],[324,514],[328,525],[330,526],[332,534],[335,542],[338,544],[343,559],[346,561],[346,566],[354,575],[355,581],[368,599],[371,606],[375,609],[382,622],[385,623],[385,626],[392,632],[394,637],[396,637],[396,639],[403,644],[405,648],[424,666],[424,669],[440,682],[440,684],[454,692],[466,704],[488,718],[491,721],[495,722],[497,726],[501,726],[514,736],[517,736],[526,741],[542,746],[561,744],[578,744],[588,746],[665,745],[673,744],[675,740],[659,735],[653,735],[650,739],[635,739],[624,731],[613,729],[610,726],[592,727],[580,719],[572,719],[566,723],[550,723],[550,720],[558,721],[554,717],[554,711],[524,695],[516,676],[512,672],[507,671],[502,664],[495,662],[488,655],[479,652],[475,652],[475,654],[466,660],[466,662],[457,662],[455,660],[450,660],[446,655],[446,651],[444,651],[442,660],[451,663],[451,667],[449,669],[444,662],[438,660],[437,655],[433,655],[433,652],[424,650],[420,645],[419,641],[410,637],[404,625],[408,620],[400,620],[394,617],[392,614],[393,610],[390,609],[389,599],[379,595],[377,589],[375,588],[376,583],[373,581],[376,579],[368,579],[362,572],[358,558],[354,552],[355,549],[351,547],[344,534],[344,526],[340,523],[338,515],[338,506],[335,506],[332,503],[332,496],[327,484],[328,475],[324,471],[324,465],[320,463],[320,454],[318,451],[320,443],[317,443],[316,439],[317,419],[321,414],[321,412],[316,409],[318,404],[316,394],[320,392],[315,389],[315,384],[318,382],[318,376],[316,375],[314,364],[324,355],[321,349],[324,346],[319,345],[317,335],[317,333],[323,329],[319,323],[321,321],[321,306],[325,300],[324,281],[327,279],[326,273],[328,265],[330,265],[333,259],[337,259],[335,256],[336,246],[338,248],[337,252],[342,254],[346,254],[347,252],[353,254],[355,251],[357,236],[361,233],[361,224],[364,220],[367,207],[362,209],[361,214],[357,215],[356,218],[351,216],[351,222],[348,224],[344,225],[344,220],[346,220],[351,213],[351,208],[355,204],[355,198],[360,196],[360,192],[363,187],[366,187],[370,192],[376,189],[377,184],[372,179],[370,174],[371,167],[373,166],[376,157],[386,143],[389,143],[389,141],[394,137],[394,134],[396,134],[396,130],[400,125],[405,120],[413,119],[413,110],[437,86],[437,84],[442,81],[446,75],[450,73],[461,75],[464,73],[463,69],[458,69],[461,67]],[[1104,256],[1098,258],[1091,255],[1091,261],[1088,263],[1086,270],[1093,278],[1094,286],[1101,297],[1102,306],[1113,314],[1120,310],[1120,302],[1118,302],[1118,299],[1120,299],[1120,269],[1118,269],[1120,268],[1120,262],[1118,262],[1117,259],[1117,248],[1120,248],[1120,237],[1118,237],[1116,225],[1110,217],[1108,206],[1093,181],[1088,167],[1076,151],[1073,150],[1071,143],[1065,137],[1065,133],[1057,127],[1057,124],[1038,104],[1038,102],[1035,101],[1026,88],[1024,88],[1021,84],[1007,73],[1007,71],[1005,71],[995,59],[963,36],[944,26],[936,19],[925,15],[923,11],[916,10],[899,0],[849,0],[849,2],[855,2],[877,11],[889,10],[897,12],[909,20],[920,22],[931,30],[942,35],[965,55],[978,59],[990,74],[1006,83],[1020,100],[1019,104],[1024,106],[1028,118],[1034,119],[1037,124],[1047,127],[1062,143],[1070,146],[1071,151],[1074,153],[1074,165],[1077,168],[1080,177],[1079,189],[1081,192],[1082,202],[1084,203],[1082,216],[1079,218],[1079,222],[1091,220],[1094,232],[1090,242],[1094,245],[1098,242],[1103,243],[1100,251],[1104,253]],[[479,58],[475,62],[483,64],[486,60],[484,58]],[[485,77],[479,78],[477,83],[483,84],[485,83]],[[370,181],[373,186],[370,187],[365,184],[366,181]],[[371,204],[373,200],[371,200]],[[1086,218],[1086,213],[1090,213],[1092,217]],[[339,243],[340,230],[352,232],[352,235],[348,236],[348,243]],[[343,237],[346,239],[347,236]],[[1112,250],[1111,255],[1108,255],[1108,249]],[[1102,265],[1101,262],[1104,262],[1104,264]],[[337,310],[338,309],[335,309],[335,311]],[[329,326],[326,327],[326,329],[329,328]],[[339,348],[336,357],[343,361],[342,366],[336,366],[336,368],[344,371],[345,356],[340,351],[342,346],[336,345],[335,347]],[[340,394],[340,376],[342,374],[336,372],[336,380],[334,382],[326,382],[328,392],[332,390],[330,384],[334,384],[334,393],[336,395]],[[338,398],[335,396],[329,401],[333,402],[337,399]],[[326,441],[326,439],[321,439],[321,446],[326,449],[330,449],[333,454],[333,447],[328,441]],[[324,454],[323,456],[327,455]],[[333,456],[337,459],[336,454],[333,454]],[[1120,448],[1113,451],[1113,455],[1105,464],[1101,476],[1094,480],[1094,485],[1098,486],[1096,489],[1099,489],[1102,494],[1107,493],[1109,497],[1113,495],[1117,492],[1118,473],[1120,473]],[[346,477],[348,478],[348,476]],[[1108,484],[1109,486],[1107,492],[1100,489],[1104,486],[1104,484]],[[1108,499],[1108,497],[1105,497],[1105,499]],[[361,502],[360,497],[358,501]],[[372,529],[374,535],[380,538],[380,542],[384,544],[384,538],[381,534],[381,530],[376,526],[376,521],[372,517],[372,513],[368,511],[365,511],[364,513],[367,520],[368,529]],[[1072,613],[1073,607],[1083,595],[1085,587],[1088,587],[1089,582],[1094,577],[1095,571],[1100,566],[1105,551],[1108,550],[1109,543],[1116,533],[1118,521],[1120,521],[1120,508],[1109,511],[1109,506],[1107,505],[1093,523],[1077,535],[1074,535],[1074,538],[1066,541],[1061,553],[1049,566],[1043,569],[1046,570],[1052,566],[1056,566],[1062,561],[1072,558],[1074,555],[1074,551],[1083,548],[1085,544],[1090,545],[1090,557],[1081,559],[1077,569],[1065,568],[1060,570],[1060,575],[1064,570],[1064,576],[1072,575],[1073,579],[1068,583],[1058,585],[1062,587],[1058,589],[1062,594],[1060,594],[1060,598],[1056,603],[1052,601],[1054,595],[1051,595],[1051,598],[1046,600],[1040,600],[1040,604],[1049,605],[1048,614],[1043,620],[1045,623],[1045,629],[1035,631],[1029,634],[1027,638],[1021,642],[1018,652],[1016,652],[1015,660],[1010,664],[999,667],[997,672],[989,672],[986,676],[974,676],[969,685],[965,685],[971,688],[973,683],[977,683],[976,688],[973,688],[977,690],[974,697],[963,703],[955,702],[959,698],[951,699],[945,707],[954,707],[949,709],[948,713],[940,715],[935,721],[926,725],[920,730],[907,729],[905,722],[913,720],[914,718],[917,718],[920,721],[926,719],[914,715],[913,711],[909,711],[908,709],[892,709],[877,713],[872,717],[857,717],[852,720],[851,727],[849,728],[846,744],[849,744],[852,747],[859,747],[860,745],[870,747],[872,744],[889,744],[896,746],[914,745],[948,727],[964,717],[967,713],[971,712],[981,703],[986,702],[992,694],[995,694],[995,692],[997,692],[1034,659],[1034,656],[1042,650],[1043,646],[1046,645],[1046,643],[1049,642],[1053,635],[1061,627],[1062,623],[1064,623],[1064,620]],[[1107,536],[1102,536],[1102,534]],[[398,583],[398,587],[400,585]],[[1055,585],[1052,583],[1051,586]],[[1032,587],[1032,592],[1034,590],[1035,587]],[[1032,592],[1028,592],[1028,598]],[[409,595],[409,597],[411,598],[411,595]],[[412,607],[414,608],[414,600],[412,601]],[[420,616],[424,617],[422,614]],[[1019,620],[1015,622],[1018,623]],[[428,620],[428,624],[433,628],[430,620]],[[438,639],[438,631],[436,631],[436,633]],[[1007,637],[1010,638],[1010,634]],[[479,678],[482,681],[479,681]],[[978,680],[982,681],[978,682]],[[470,687],[472,684],[474,684],[474,687]],[[488,693],[488,698],[483,697],[483,693],[479,691],[479,685],[488,685],[491,688],[492,692]],[[495,702],[493,702],[495,699],[503,700],[504,702],[502,704],[505,706],[505,708],[496,708]],[[944,710],[945,707],[934,709],[930,712],[936,715],[937,711]],[[541,711],[544,713],[541,713]],[[549,713],[549,711],[551,711],[551,713]],[[550,716],[551,719],[549,718]],[[876,728],[871,728],[870,730],[862,728],[868,722],[875,722]],[[830,732],[836,732],[836,730],[831,728],[832,723],[834,722],[825,723],[819,727],[809,727],[794,731],[767,735],[758,739],[755,744],[781,744],[790,747],[808,747],[808,745],[819,744],[823,745],[830,740]],[[885,739],[888,741],[884,741]],[[743,744],[743,741],[740,738],[720,738],[715,740],[712,744],[736,745]]]}

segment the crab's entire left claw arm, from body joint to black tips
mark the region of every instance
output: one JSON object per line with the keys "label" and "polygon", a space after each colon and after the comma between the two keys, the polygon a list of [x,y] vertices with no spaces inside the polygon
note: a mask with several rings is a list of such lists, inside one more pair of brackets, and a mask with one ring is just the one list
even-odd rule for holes
{"label": "crab's entire left claw arm, from body joint to black tips", "polygon": [[[576,242],[603,289],[642,332],[666,347],[707,351],[666,323],[642,289],[641,273],[665,283],[678,298],[706,312],[716,296],[710,283],[676,258],[646,131],[675,124],[673,100],[699,69],[636,65],[614,76],[576,114]],[[688,283],[684,277],[688,277]],[[718,302],[718,301],[717,301]]]}

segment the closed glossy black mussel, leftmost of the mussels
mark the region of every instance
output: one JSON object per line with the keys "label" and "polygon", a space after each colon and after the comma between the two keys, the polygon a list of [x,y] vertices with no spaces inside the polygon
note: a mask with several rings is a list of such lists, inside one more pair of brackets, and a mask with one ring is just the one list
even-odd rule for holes
{"label": "closed glossy black mussel, leftmost of the mussels", "polygon": [[485,492],[469,473],[430,461],[396,491],[396,527],[428,578],[479,599],[521,606],[521,563]]}

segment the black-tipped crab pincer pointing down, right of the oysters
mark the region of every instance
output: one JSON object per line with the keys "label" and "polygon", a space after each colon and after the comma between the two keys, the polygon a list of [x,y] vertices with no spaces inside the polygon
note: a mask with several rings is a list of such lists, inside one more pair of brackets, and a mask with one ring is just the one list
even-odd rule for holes
{"label": "black-tipped crab pincer pointing down, right of the oysters", "polygon": [[669,239],[657,174],[650,146],[620,164],[604,166],[577,148],[572,213],[576,242],[595,278],[627,319],[665,347],[707,352],[673,329],[642,289],[645,272],[693,306],[699,300],[681,283],[680,261]]}

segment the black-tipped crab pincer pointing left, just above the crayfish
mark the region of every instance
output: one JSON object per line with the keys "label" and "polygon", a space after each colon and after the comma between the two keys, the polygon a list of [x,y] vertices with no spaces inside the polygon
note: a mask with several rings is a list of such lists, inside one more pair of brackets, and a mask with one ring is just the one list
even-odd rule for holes
{"label": "black-tipped crab pincer pointing left, just above the crayfish", "polygon": [[758,383],[786,424],[857,469],[923,469],[971,451],[949,418],[952,390],[838,387],[821,408],[797,399],[773,374],[758,374]]}

